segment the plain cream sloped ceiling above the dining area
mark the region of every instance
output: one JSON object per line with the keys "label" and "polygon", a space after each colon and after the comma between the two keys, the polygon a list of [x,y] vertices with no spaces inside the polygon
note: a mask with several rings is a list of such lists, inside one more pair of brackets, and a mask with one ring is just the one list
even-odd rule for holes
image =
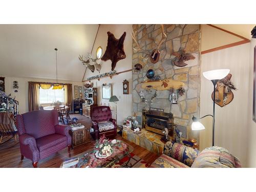
{"label": "plain cream sloped ceiling above the dining area", "polygon": [[[0,25],[0,75],[81,81],[98,25]],[[107,40],[107,39],[106,39]]]}

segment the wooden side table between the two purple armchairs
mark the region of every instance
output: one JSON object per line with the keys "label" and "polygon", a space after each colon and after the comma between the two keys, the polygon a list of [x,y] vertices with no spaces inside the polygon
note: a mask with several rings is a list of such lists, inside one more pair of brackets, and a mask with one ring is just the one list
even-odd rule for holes
{"label": "wooden side table between the two purple armchairs", "polygon": [[75,131],[70,130],[70,135],[72,137],[72,148],[76,145],[91,141],[90,131],[86,127]]}

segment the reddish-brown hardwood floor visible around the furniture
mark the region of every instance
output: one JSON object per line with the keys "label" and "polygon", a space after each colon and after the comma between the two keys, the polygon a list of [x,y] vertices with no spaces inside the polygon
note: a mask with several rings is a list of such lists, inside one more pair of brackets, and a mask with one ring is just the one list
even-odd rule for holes
{"label": "reddish-brown hardwood floor visible around the furniture", "polygon": [[[82,116],[80,116],[79,119],[84,120]],[[134,147],[133,153],[144,159],[147,163],[153,163],[158,158],[157,154],[147,151],[145,148],[123,139],[119,134],[116,136],[116,139],[123,140],[124,142],[132,145]],[[89,143],[74,147],[74,149],[71,150],[70,155],[67,147],[46,159],[40,160],[37,167],[59,167],[63,160],[71,158],[84,151],[91,150],[93,147],[94,140],[91,138]],[[33,167],[31,160],[27,158],[20,160],[18,139],[16,144],[14,144],[14,139],[11,139],[10,141],[0,145],[0,167]]]}

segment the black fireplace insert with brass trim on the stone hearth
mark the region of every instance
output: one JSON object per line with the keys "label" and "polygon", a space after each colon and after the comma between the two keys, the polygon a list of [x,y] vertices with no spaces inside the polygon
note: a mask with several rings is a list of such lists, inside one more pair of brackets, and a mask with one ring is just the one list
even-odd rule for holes
{"label": "black fireplace insert with brass trim on the stone hearth", "polygon": [[157,134],[163,135],[162,131],[167,128],[169,135],[173,137],[174,121],[172,113],[164,113],[159,111],[143,110],[143,128]]}

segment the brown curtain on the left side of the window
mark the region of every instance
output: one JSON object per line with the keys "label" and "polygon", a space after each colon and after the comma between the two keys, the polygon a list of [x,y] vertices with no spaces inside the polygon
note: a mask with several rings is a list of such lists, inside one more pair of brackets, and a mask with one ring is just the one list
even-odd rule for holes
{"label": "brown curtain on the left side of the window", "polygon": [[39,83],[29,82],[29,111],[39,109]]}

